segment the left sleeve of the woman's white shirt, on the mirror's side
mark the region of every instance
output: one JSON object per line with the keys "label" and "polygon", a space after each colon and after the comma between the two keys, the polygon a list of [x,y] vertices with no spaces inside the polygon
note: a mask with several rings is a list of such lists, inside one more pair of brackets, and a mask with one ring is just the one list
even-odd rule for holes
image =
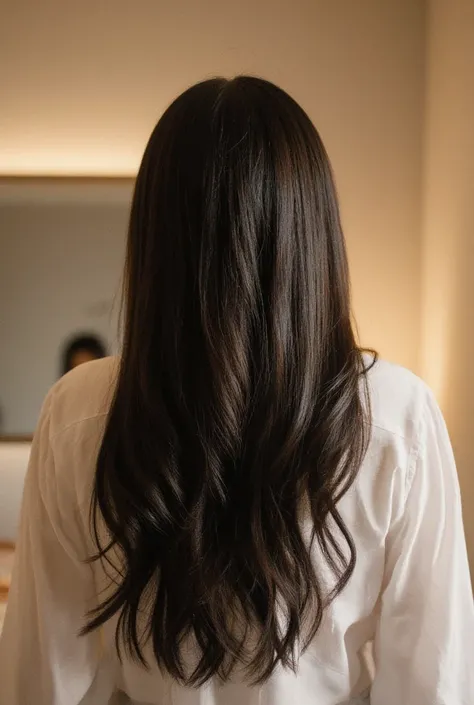
{"label": "left sleeve of the woman's white shirt, on the mirror's side", "polygon": [[5,705],[105,703],[111,688],[102,682],[100,699],[90,699],[103,680],[99,635],[78,633],[94,605],[94,578],[84,561],[77,508],[68,506],[68,496],[58,489],[50,410],[51,395],[32,445],[0,639],[0,702]]}

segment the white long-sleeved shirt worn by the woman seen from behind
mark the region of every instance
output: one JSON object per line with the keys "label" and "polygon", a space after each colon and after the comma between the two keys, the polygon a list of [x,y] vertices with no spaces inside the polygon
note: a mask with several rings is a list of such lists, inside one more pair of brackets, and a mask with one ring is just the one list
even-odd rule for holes
{"label": "white long-sleeved shirt worn by the woman seen from behind", "polygon": [[[448,434],[425,385],[383,362],[369,373],[369,450],[340,504],[355,572],[296,675],[186,689],[156,666],[120,663],[115,622],[76,636],[104,579],[84,559],[94,551],[91,487],[115,376],[112,360],[84,365],[45,402],[0,643],[1,705],[129,702],[124,693],[147,705],[474,704],[474,606]],[[372,684],[362,658],[371,640]]]}

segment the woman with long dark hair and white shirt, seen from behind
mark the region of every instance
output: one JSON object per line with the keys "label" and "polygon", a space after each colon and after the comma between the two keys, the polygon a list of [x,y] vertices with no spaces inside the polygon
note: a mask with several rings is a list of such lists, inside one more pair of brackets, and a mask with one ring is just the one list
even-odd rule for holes
{"label": "woman with long dark hair and white shirt, seen from behind", "polygon": [[120,361],[44,405],[1,702],[473,703],[446,428],[357,347],[328,158],[288,95],[216,79],[171,105],[126,282]]}

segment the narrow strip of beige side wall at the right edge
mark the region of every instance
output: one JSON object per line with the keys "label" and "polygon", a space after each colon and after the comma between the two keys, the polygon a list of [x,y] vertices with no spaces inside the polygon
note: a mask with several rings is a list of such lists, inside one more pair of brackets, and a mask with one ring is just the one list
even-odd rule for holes
{"label": "narrow strip of beige side wall at the right edge", "polygon": [[451,432],[474,567],[474,1],[430,4],[422,371]]}

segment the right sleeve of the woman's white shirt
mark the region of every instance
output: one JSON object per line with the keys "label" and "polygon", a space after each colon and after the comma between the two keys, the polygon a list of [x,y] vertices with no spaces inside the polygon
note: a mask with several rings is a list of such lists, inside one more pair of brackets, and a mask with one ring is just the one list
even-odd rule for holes
{"label": "right sleeve of the woman's white shirt", "polygon": [[372,705],[473,705],[474,603],[453,452],[431,397],[387,541]]}

